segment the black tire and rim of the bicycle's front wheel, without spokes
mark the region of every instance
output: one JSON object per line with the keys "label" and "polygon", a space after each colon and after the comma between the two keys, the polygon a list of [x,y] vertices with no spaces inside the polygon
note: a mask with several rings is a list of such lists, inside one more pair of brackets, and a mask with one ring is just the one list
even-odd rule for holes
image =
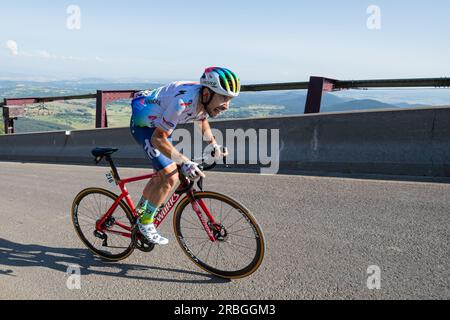
{"label": "black tire and rim of the bicycle's front wheel, without spokes", "polygon": [[[225,279],[240,279],[244,277],[248,277],[251,274],[253,274],[258,268],[260,267],[263,259],[264,259],[264,253],[265,253],[265,242],[264,242],[264,235],[259,227],[256,219],[252,216],[252,214],[247,210],[243,205],[232,199],[231,197],[228,197],[226,195],[216,193],[216,192],[196,192],[194,193],[195,199],[214,199],[218,200],[222,203],[226,203],[230,207],[236,209],[240,214],[242,214],[243,217],[245,217],[245,220],[251,225],[252,231],[255,235],[255,241],[256,241],[256,250],[253,259],[251,262],[238,269],[238,270],[223,270],[218,269],[215,266],[211,266],[207,262],[202,261],[189,247],[188,241],[186,241],[185,236],[183,234],[182,230],[182,216],[183,213],[186,214],[186,207],[190,204],[189,198],[185,197],[180,204],[177,206],[174,217],[173,217],[173,227],[174,232],[176,235],[176,239],[178,241],[178,244],[182,248],[183,252],[187,255],[187,257],[194,262],[198,267],[201,269],[207,271],[208,273],[211,273],[213,275],[216,275],[220,278]],[[197,217],[198,218],[198,217]],[[205,230],[203,232],[206,234]],[[212,242],[211,242],[212,243]],[[211,249],[210,249],[211,250]]]}

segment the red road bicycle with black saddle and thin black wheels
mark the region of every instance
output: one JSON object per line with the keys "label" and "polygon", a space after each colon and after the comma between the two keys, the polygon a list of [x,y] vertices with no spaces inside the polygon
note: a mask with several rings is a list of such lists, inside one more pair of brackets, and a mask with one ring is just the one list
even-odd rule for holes
{"label": "red road bicycle with black saddle and thin black wheels", "polygon": [[[151,179],[157,173],[121,179],[112,160],[118,150],[96,148],[92,155],[97,165],[103,159],[109,163],[111,172],[107,179],[120,188],[121,194],[87,188],[75,197],[72,205],[72,222],[80,240],[94,254],[109,261],[124,260],[135,249],[151,252],[155,248],[137,228],[139,216],[126,185]],[[202,161],[202,171],[212,170],[217,165],[216,162],[208,165],[204,159]],[[155,226],[158,228],[176,206],[174,233],[192,262],[220,278],[239,279],[253,274],[265,253],[264,235],[256,219],[231,197],[203,191],[203,179],[197,181],[197,190],[195,182],[181,172],[179,176],[180,184],[159,208]]]}

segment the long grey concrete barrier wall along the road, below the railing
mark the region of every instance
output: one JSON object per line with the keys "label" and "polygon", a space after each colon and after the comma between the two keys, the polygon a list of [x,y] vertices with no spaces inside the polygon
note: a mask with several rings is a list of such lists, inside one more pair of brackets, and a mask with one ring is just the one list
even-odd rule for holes
{"label": "long grey concrete barrier wall along the road, below the railing", "polygon": [[[234,144],[227,141],[227,130],[256,130],[259,139],[261,130],[267,129],[269,150],[270,130],[279,130],[280,173],[450,177],[450,107],[214,121],[212,127],[223,134],[227,146]],[[192,125],[179,128],[193,132]],[[91,164],[90,151],[97,146],[120,148],[114,156],[119,165],[148,165],[128,128],[72,131],[68,136],[65,132],[0,136],[0,160]],[[231,158],[246,160],[235,168],[262,167],[259,157],[258,163],[249,163],[250,147],[247,142],[246,152],[239,154],[232,148]]]}

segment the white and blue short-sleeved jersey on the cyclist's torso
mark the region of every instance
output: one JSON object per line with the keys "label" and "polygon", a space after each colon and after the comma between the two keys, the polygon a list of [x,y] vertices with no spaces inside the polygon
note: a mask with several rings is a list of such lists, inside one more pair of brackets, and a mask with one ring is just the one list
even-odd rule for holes
{"label": "white and blue short-sleeved jersey on the cyclist's torso", "polygon": [[137,92],[131,103],[136,126],[161,128],[172,133],[177,124],[208,118],[199,110],[202,86],[195,82],[172,82],[153,91]]}

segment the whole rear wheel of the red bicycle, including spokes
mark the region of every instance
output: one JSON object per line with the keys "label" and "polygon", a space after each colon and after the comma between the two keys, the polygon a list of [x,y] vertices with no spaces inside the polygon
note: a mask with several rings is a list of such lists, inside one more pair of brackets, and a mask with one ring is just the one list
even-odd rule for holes
{"label": "whole rear wheel of the red bicycle, including spokes", "polygon": [[117,198],[117,195],[108,190],[88,188],[75,197],[72,205],[72,222],[80,240],[94,254],[111,261],[126,259],[134,250],[130,231],[134,218],[123,201],[119,202],[102,229],[96,228],[97,222],[105,216]]}

